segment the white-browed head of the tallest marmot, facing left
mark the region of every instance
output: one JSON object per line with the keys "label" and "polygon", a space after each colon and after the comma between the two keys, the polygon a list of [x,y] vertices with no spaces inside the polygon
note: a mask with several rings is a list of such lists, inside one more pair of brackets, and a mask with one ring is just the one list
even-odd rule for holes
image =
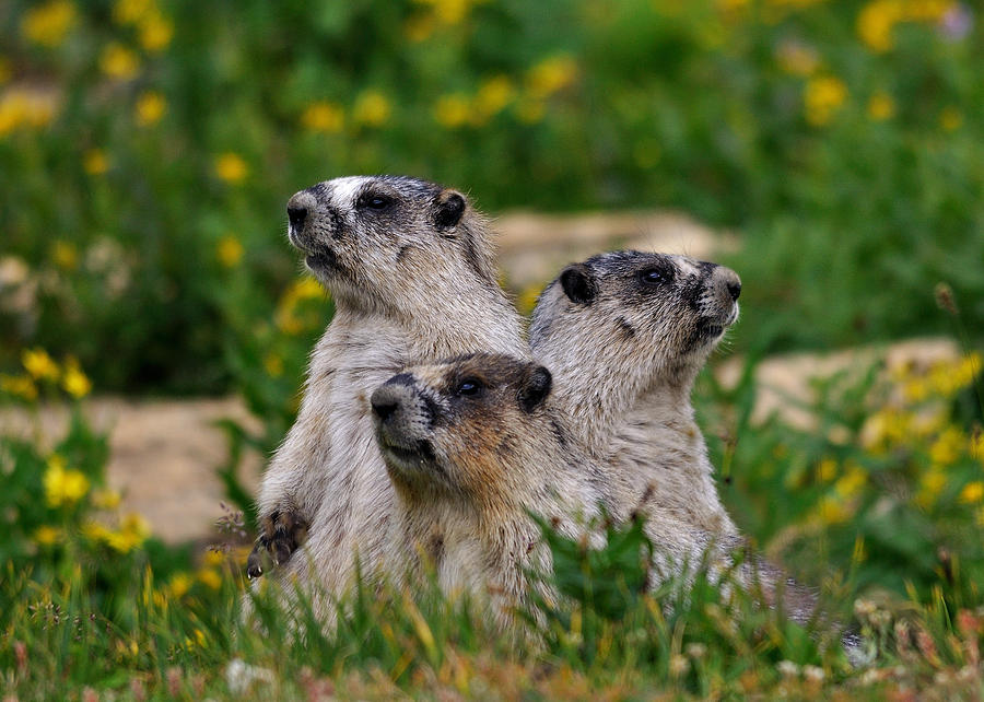
{"label": "white-browed head of the tallest marmot, facing left", "polygon": [[[403,307],[414,302],[406,300],[408,280],[423,277],[444,295],[459,292],[454,285],[465,279],[496,285],[481,215],[464,195],[433,183],[401,176],[326,180],[291,197],[288,220],[291,244],[336,297]],[[419,288],[415,295],[432,292]]]}

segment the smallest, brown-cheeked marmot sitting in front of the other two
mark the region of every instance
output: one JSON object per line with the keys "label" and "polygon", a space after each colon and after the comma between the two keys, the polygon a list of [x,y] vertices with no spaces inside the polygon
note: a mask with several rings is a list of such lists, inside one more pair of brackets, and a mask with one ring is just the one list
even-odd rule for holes
{"label": "smallest, brown-cheeked marmot sitting in front of the other two", "polygon": [[551,383],[536,363],[476,353],[408,367],[373,393],[397,493],[388,575],[419,576],[430,561],[445,592],[491,596],[507,624],[526,571],[550,569],[530,512],[567,537],[591,538],[600,470],[575,448],[548,399]]}

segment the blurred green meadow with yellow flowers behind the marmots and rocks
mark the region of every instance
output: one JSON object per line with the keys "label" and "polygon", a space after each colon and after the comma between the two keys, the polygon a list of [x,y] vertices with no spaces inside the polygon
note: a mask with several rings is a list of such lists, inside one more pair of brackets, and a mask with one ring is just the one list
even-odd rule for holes
{"label": "blurred green meadow with yellow flowers behind the marmots and rocks", "polygon": [[964,3],[13,1],[0,39],[0,370],[282,406],[330,313],[283,204],[352,173],[736,230],[739,349],[946,330],[939,281],[984,329]]}

